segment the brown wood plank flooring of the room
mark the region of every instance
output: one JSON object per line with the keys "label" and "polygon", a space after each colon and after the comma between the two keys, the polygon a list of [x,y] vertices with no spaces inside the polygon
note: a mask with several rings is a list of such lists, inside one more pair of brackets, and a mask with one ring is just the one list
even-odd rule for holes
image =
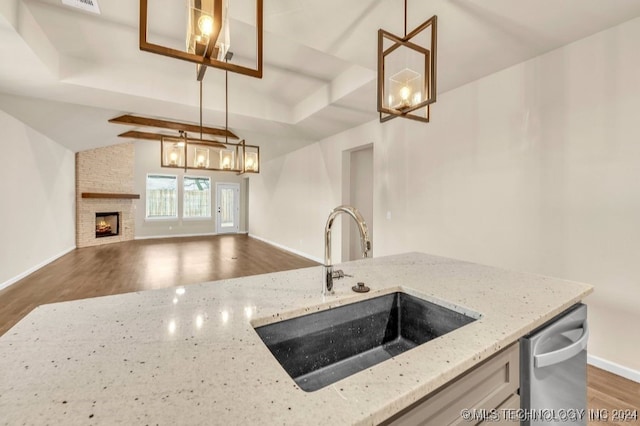
{"label": "brown wood plank flooring of the room", "polygon": [[[246,235],[137,240],[61,257],[0,291],[0,336],[36,306],[316,266]],[[640,384],[588,366],[591,410],[640,414]],[[589,425],[640,425],[593,419]]]}

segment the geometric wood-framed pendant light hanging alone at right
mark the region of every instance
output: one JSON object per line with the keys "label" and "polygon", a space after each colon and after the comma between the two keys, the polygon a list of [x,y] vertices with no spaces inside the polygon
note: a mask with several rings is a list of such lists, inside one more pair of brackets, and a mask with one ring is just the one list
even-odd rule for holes
{"label": "geometric wood-framed pendant light hanging alone at right", "polygon": [[396,117],[429,122],[436,101],[438,17],[432,16],[404,37],[378,30],[378,112],[380,122]]}

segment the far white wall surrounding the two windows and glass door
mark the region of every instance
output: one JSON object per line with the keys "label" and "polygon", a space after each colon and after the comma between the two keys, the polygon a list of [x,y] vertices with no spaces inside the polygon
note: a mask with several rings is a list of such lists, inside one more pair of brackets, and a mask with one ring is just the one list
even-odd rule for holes
{"label": "far white wall surrounding the two windows and glass door", "polygon": [[[212,216],[210,219],[183,220],[181,217],[175,220],[146,220],[146,179],[149,173],[176,175],[178,185],[182,185],[182,177],[204,176],[211,178],[211,203]],[[207,235],[216,232],[216,183],[240,184],[240,232],[247,232],[247,178],[231,172],[211,172],[206,170],[188,170],[160,167],[160,142],[137,141],[135,142],[135,193],[140,194],[140,202],[136,203],[135,229],[136,238],[156,238],[167,236]],[[178,197],[178,212],[182,211],[182,192]],[[180,216],[180,214],[179,214]]]}

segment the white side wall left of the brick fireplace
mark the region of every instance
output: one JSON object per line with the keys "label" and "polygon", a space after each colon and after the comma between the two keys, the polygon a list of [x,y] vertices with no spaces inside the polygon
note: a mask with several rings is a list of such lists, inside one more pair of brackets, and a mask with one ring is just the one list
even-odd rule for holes
{"label": "white side wall left of the brick fireplace", "polygon": [[75,247],[75,157],[0,110],[0,288]]}

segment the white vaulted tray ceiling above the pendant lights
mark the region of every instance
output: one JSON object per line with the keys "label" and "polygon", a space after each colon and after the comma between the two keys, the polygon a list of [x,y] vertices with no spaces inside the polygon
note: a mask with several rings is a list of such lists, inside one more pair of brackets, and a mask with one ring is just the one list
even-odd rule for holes
{"label": "white vaulted tray ceiling above the pendant lights", "polygon": [[[150,0],[150,36],[184,43],[184,1]],[[0,1],[0,109],[73,151],[122,142],[130,128],[107,120],[123,113],[197,122],[195,66],[139,50],[138,1],[98,2],[100,15]],[[229,2],[241,59],[252,0]],[[402,33],[403,1],[264,3],[264,77],[229,73],[229,127],[273,158],[375,119],[377,30]],[[438,15],[440,94],[640,16],[638,0],[408,3],[409,29]],[[204,124],[223,127],[224,72],[207,71],[203,104]]]}

